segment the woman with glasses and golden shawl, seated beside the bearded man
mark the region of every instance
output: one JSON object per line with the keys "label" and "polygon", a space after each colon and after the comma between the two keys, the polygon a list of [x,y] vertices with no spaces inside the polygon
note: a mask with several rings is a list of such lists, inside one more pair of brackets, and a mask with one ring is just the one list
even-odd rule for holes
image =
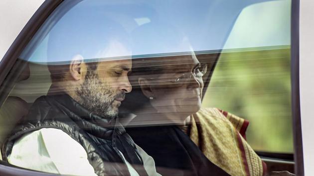
{"label": "woman with glasses and golden shawl, seated beside the bearded man", "polygon": [[[193,52],[143,61],[144,67],[134,60],[130,78],[135,90],[125,103],[132,113],[123,120],[156,167],[197,173],[193,169],[205,156],[232,176],[266,174],[266,165],[245,141],[248,122],[217,108],[201,108],[207,64],[199,63]],[[197,151],[202,154],[195,156]]]}

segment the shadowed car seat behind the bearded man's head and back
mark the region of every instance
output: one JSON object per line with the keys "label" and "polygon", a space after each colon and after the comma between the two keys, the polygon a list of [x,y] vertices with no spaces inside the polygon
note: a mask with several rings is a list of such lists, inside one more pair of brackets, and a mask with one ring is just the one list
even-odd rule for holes
{"label": "shadowed car seat behind the bearded man's head and back", "polygon": [[[32,102],[46,95],[51,85],[46,65],[24,62],[26,67],[18,76],[14,87],[0,107],[0,146],[17,122],[28,113]],[[0,160],[2,160],[0,152]]]}

